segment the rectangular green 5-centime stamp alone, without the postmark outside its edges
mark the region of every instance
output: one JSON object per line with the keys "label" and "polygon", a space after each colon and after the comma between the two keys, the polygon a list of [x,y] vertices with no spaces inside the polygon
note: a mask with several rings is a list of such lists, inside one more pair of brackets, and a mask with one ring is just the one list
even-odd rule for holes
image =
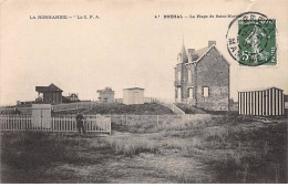
{"label": "rectangular green 5-centime stamp alone, without the postmark outside its edges", "polygon": [[239,63],[276,65],[276,20],[238,20]]}

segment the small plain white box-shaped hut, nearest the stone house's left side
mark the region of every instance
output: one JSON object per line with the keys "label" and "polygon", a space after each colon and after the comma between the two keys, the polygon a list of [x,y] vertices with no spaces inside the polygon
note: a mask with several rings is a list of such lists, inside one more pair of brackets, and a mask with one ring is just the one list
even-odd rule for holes
{"label": "small plain white box-shaped hut, nearest the stone house's left side", "polygon": [[144,89],[123,89],[123,104],[144,104]]}

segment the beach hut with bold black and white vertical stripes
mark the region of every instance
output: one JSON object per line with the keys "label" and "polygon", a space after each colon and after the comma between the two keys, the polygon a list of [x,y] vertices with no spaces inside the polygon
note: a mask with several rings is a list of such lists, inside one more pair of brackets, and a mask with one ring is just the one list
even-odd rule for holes
{"label": "beach hut with bold black and white vertical stripes", "polygon": [[239,114],[284,115],[284,91],[277,87],[238,92]]}

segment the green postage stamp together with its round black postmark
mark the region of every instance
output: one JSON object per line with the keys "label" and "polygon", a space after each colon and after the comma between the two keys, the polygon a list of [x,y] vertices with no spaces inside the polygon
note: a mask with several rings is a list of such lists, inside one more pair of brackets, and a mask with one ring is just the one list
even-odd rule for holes
{"label": "green postage stamp together with its round black postmark", "polygon": [[240,65],[276,65],[276,20],[245,12],[228,27],[227,50]]}

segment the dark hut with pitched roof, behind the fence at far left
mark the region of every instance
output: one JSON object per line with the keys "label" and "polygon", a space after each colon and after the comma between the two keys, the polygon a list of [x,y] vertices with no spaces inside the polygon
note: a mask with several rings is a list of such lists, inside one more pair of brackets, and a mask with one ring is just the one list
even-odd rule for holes
{"label": "dark hut with pitched roof, behind the fence at far left", "polygon": [[49,86],[35,86],[35,91],[39,94],[37,98],[38,102],[47,104],[62,103],[63,91],[54,84],[50,84]]}

